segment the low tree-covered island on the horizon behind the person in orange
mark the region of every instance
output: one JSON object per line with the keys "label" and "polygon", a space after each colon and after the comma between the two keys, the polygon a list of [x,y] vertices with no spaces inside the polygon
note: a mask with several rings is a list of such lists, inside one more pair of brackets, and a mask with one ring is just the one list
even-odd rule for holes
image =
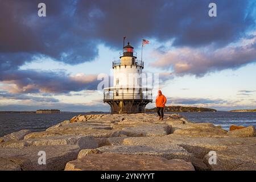
{"label": "low tree-covered island on the horizon behind the person in orange", "polygon": [[[156,107],[152,109],[146,109],[146,112],[154,112]],[[166,106],[164,107],[165,112],[216,112],[215,109],[204,108],[204,107],[183,107],[183,106]]]}

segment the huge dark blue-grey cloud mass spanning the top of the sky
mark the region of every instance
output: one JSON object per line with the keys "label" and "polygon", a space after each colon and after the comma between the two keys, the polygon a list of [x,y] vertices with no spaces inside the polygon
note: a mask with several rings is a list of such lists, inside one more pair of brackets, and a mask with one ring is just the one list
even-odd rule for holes
{"label": "huge dark blue-grey cloud mass spanning the top of the sky", "polygon": [[121,48],[124,35],[135,45],[147,37],[160,42],[173,39],[174,46],[221,46],[255,26],[255,6],[249,0],[216,0],[215,18],[208,16],[210,1],[203,0],[44,0],[43,18],[37,15],[39,2],[1,1],[0,57],[5,67],[18,67],[34,56],[84,63],[95,59],[99,43]]}

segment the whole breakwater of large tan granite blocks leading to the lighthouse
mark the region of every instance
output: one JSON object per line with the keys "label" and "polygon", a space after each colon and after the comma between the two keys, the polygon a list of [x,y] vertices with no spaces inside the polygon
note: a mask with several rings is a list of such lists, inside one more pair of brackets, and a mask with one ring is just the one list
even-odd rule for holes
{"label": "whole breakwater of large tan granite blocks leading to the lighthouse", "polygon": [[226,131],[175,114],[79,115],[0,138],[0,170],[255,170],[255,154],[254,126]]}

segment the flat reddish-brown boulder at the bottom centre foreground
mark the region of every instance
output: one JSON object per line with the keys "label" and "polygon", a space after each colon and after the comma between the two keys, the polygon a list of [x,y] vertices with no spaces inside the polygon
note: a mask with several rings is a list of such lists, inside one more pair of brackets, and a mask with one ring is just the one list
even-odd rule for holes
{"label": "flat reddish-brown boulder at the bottom centre foreground", "polygon": [[193,171],[190,162],[148,155],[89,154],[68,162],[66,171]]}

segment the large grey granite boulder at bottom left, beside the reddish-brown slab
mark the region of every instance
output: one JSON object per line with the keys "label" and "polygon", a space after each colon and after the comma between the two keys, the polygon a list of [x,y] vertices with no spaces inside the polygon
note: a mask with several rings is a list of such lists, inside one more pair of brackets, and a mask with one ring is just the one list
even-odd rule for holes
{"label": "large grey granite boulder at bottom left, beside the reddish-brown slab", "polygon": [[[39,151],[46,152],[46,165],[38,163]],[[22,170],[63,170],[67,162],[77,158],[79,151],[77,145],[0,148],[0,158],[11,160]]]}

